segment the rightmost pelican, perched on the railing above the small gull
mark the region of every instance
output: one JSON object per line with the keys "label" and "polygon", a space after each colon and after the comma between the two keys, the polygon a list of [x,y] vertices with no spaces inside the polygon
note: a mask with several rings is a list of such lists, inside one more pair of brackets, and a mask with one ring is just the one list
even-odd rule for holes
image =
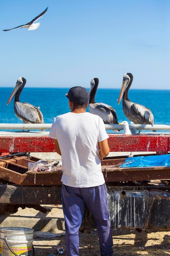
{"label": "rightmost pelican, perched on the railing above the small gull", "polygon": [[154,117],[149,108],[138,103],[133,103],[128,98],[128,90],[132,84],[133,76],[131,73],[124,74],[118,104],[123,95],[123,111],[125,116],[134,124],[153,124]]}

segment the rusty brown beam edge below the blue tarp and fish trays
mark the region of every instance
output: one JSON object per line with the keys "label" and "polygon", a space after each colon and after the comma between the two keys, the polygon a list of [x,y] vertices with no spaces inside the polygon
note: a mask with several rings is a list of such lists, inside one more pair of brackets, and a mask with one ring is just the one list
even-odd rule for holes
{"label": "rusty brown beam edge below the blue tarp and fish trays", "polygon": [[[166,166],[134,168],[102,166],[102,171],[106,184],[111,184],[113,182],[170,179],[170,167]],[[35,172],[33,174],[22,174],[0,166],[0,179],[21,186],[61,186],[61,177],[62,172]]]}

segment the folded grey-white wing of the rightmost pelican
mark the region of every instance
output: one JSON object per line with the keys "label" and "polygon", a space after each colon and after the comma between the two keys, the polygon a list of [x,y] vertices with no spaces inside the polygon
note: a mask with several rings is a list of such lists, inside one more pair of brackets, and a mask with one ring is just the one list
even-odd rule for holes
{"label": "folded grey-white wing of the rightmost pelican", "polygon": [[138,115],[140,115],[140,117],[148,122],[148,124],[153,124],[154,117],[149,108],[146,108],[145,106],[137,103],[133,103],[132,108],[138,113]]}

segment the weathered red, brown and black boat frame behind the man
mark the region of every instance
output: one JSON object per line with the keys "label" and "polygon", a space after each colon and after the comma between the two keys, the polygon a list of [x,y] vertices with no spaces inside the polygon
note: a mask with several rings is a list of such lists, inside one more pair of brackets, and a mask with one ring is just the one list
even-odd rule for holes
{"label": "weathered red, brown and black boat frame behind the man", "polygon": [[[110,152],[155,152],[155,154],[168,154],[170,151],[170,134],[149,135],[115,135],[110,134],[108,143]],[[24,152],[55,152],[53,139],[45,135],[0,136],[1,156],[7,152],[12,154]],[[62,173],[26,174],[26,162],[33,161],[22,155],[19,162],[13,158],[7,165],[0,164],[0,205],[1,212],[17,207],[31,205],[36,209],[41,204],[61,203],[61,175]],[[106,158],[102,161],[106,185],[108,186],[108,203],[111,224],[115,228],[135,228],[145,231],[170,230],[170,167],[135,167],[121,168],[120,162],[125,157]],[[3,159],[3,158],[2,158]],[[36,161],[36,159],[34,159]],[[1,161],[5,162],[7,160]],[[17,160],[19,161],[19,160]],[[25,163],[24,163],[25,162]],[[147,180],[160,180],[166,186],[151,185]],[[9,207],[10,206],[10,207]],[[5,210],[4,210],[5,209]],[[90,216],[90,218],[88,218]],[[126,218],[124,218],[126,216]],[[95,227],[93,217],[86,212],[82,228]]]}

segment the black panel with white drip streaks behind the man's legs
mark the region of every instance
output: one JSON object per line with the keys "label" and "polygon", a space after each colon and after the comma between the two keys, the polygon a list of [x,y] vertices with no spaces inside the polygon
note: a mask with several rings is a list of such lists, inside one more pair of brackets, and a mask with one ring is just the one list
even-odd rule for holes
{"label": "black panel with white drip streaks behind the man's legs", "polygon": [[[110,187],[108,207],[113,228],[135,228],[141,232],[170,230],[169,191]],[[87,209],[81,229],[95,227],[95,220]]]}

